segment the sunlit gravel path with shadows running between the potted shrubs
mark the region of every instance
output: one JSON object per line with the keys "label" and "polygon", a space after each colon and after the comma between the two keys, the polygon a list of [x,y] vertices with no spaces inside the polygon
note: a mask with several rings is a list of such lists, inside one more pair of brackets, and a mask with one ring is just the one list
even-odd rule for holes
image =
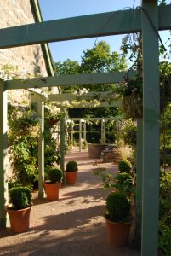
{"label": "sunlit gravel path with shadows running between the potted shrubs", "polygon": [[30,229],[17,235],[1,229],[0,255],[139,256],[140,252],[111,247],[107,241],[102,217],[107,194],[92,170],[101,166],[117,173],[117,166],[98,164],[100,160],[88,159],[86,151],[71,152],[68,160],[78,162],[77,184],[62,185],[59,201],[38,199],[35,193]]}

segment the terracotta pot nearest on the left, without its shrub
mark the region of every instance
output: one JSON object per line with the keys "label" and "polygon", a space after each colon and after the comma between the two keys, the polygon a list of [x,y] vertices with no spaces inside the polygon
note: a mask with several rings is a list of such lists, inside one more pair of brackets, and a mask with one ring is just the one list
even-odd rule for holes
{"label": "terracotta pot nearest on the left, without its shrub", "polygon": [[9,214],[11,230],[14,233],[25,232],[29,229],[31,207],[20,210],[7,208],[7,212]]}

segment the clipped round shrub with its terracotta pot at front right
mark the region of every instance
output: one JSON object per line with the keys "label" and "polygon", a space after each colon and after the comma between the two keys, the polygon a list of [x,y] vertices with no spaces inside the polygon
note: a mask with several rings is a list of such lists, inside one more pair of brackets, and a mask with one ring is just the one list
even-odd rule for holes
{"label": "clipped round shrub with its terracotta pot at front right", "polygon": [[106,198],[105,221],[108,229],[108,239],[115,247],[128,245],[131,227],[131,204],[126,195],[121,192],[111,192]]}

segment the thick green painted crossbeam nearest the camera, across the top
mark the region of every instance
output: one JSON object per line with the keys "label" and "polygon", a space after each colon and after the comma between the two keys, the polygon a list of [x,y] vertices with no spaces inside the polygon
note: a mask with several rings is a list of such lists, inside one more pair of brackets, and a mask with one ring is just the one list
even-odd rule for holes
{"label": "thick green painted crossbeam nearest the camera, across the top", "polygon": [[[159,30],[171,28],[171,5],[159,7]],[[0,49],[141,31],[140,9],[50,20],[0,30]]]}

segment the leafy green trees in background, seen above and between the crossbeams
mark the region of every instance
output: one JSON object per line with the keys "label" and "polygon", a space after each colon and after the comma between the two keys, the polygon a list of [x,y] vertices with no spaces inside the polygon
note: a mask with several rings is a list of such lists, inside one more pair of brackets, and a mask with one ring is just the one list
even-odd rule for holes
{"label": "leafy green trees in background, seen above and between the crossbeams", "polygon": [[[83,51],[81,61],[67,60],[64,62],[55,63],[56,71],[58,74],[78,74],[78,73],[108,73],[113,71],[123,71],[127,68],[127,63],[123,55],[119,55],[116,51],[111,52],[110,45],[105,41],[100,41],[95,44],[92,49]],[[89,84],[86,86],[88,91],[105,91],[114,90],[115,84]],[[65,92],[80,92],[83,87],[73,85],[61,88]],[[67,99],[66,99],[67,100]],[[70,117],[108,117],[117,114],[117,108],[79,108],[69,110]],[[79,116],[77,116],[79,115]]]}

